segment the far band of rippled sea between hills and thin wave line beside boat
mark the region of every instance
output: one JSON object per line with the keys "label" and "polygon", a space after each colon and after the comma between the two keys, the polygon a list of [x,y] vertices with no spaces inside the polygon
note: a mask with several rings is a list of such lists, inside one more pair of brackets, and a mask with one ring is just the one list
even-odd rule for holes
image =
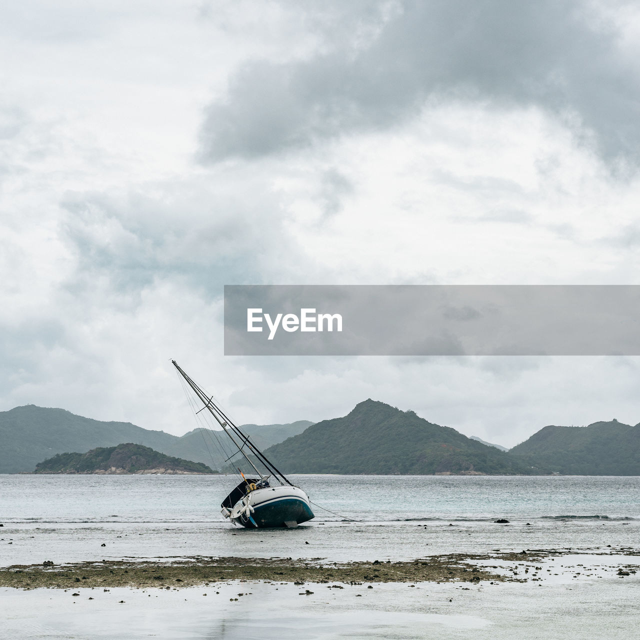
{"label": "far band of rippled sea between hills and thin wave line beside boat", "polygon": [[[640,518],[637,476],[291,476],[310,498],[351,518],[407,520],[608,515]],[[220,521],[236,476],[0,475],[7,520]],[[323,520],[340,520],[321,509]]]}

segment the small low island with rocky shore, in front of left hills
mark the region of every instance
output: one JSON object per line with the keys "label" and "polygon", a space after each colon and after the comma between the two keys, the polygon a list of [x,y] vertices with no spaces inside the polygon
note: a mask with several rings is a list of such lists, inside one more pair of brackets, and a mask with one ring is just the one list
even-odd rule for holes
{"label": "small low island with rocky shore, in front of left hills", "polygon": [[59,453],[36,465],[35,474],[214,474],[202,462],[172,458],[127,442],[86,453]]}

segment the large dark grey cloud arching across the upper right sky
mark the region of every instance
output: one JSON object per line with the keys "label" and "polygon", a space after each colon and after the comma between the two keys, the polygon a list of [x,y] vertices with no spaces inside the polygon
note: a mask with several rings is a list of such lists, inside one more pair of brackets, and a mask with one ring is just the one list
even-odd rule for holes
{"label": "large dark grey cloud arching across the upper right sky", "polygon": [[444,97],[540,106],[592,131],[604,157],[637,160],[637,71],[617,48],[620,34],[588,15],[591,5],[407,0],[401,9],[386,22],[381,11],[363,16],[380,31],[360,48],[344,35],[310,60],[246,63],[207,110],[200,159],[384,129]]}

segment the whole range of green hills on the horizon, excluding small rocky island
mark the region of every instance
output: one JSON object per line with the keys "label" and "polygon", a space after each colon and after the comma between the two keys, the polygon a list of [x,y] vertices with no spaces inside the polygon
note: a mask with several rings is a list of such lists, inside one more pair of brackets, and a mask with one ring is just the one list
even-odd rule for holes
{"label": "whole range of green hills on the horizon, excluding small rocky island", "polygon": [[[266,452],[289,473],[640,476],[640,424],[616,420],[547,426],[508,452],[372,400],[344,417],[310,424],[299,420],[245,429],[262,449],[278,443]],[[293,437],[285,440],[288,436]],[[200,429],[178,437],[31,404],[0,412],[0,473],[33,472],[54,454],[123,442],[220,470],[227,456],[214,440]]]}

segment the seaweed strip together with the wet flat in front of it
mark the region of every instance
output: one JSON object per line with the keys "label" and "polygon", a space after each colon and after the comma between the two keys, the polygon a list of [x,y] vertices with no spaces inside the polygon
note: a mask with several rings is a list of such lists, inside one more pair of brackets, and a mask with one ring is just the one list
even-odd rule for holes
{"label": "seaweed strip together with the wet flat in front of it", "polygon": [[640,550],[375,562],[227,557],[7,567],[0,628],[13,640],[623,640],[637,626]]}

